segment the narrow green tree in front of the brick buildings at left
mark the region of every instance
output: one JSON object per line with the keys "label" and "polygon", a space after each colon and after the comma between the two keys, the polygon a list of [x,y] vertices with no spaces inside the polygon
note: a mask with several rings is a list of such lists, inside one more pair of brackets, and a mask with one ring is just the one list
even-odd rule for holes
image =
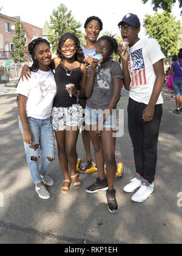
{"label": "narrow green tree in front of the brick buildings at left", "polygon": [[21,22],[16,20],[15,23],[15,37],[13,37],[13,43],[15,44],[15,52],[12,52],[12,57],[15,62],[24,62],[26,57],[24,54],[25,42],[24,42],[25,30],[21,26]]}

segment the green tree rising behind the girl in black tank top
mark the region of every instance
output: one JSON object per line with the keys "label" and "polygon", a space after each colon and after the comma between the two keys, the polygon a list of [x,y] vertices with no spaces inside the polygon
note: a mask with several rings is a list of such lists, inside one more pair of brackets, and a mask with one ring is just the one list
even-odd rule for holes
{"label": "green tree rising behind the girl in black tank top", "polygon": [[58,9],[53,10],[53,14],[50,16],[50,24],[53,33],[48,38],[50,44],[52,44],[53,52],[56,53],[59,38],[66,32],[75,34],[81,43],[84,42],[84,35],[79,30],[82,24],[74,19],[72,12],[68,11],[64,4],[60,4]]}

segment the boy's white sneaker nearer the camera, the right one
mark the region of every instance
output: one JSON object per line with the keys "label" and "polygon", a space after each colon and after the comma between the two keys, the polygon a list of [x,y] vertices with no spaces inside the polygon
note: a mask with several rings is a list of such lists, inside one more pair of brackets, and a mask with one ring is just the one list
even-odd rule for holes
{"label": "boy's white sneaker nearer the camera, the right one", "polygon": [[154,185],[151,183],[149,187],[141,184],[140,189],[133,194],[132,201],[135,202],[144,202],[146,201],[150,196],[152,196],[154,190]]}

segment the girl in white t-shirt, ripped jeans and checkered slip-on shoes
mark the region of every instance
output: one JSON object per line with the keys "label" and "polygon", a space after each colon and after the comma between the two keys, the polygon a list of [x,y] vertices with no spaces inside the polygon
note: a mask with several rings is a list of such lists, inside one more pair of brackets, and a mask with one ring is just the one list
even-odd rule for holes
{"label": "girl in white t-shirt, ripped jeans and checkered slip-on shoes", "polygon": [[[33,65],[32,78],[19,80],[18,95],[19,129],[24,140],[27,163],[35,190],[42,199],[49,199],[45,185],[52,186],[53,180],[46,171],[55,158],[55,140],[50,119],[53,99],[56,95],[55,77],[50,70],[52,54],[47,40],[37,38],[29,44]],[[38,165],[40,152],[41,165]]]}

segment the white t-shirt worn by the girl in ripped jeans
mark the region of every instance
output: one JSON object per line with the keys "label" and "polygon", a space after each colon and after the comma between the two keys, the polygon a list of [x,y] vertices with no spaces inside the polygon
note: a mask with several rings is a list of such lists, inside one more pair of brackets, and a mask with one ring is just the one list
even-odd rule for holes
{"label": "white t-shirt worn by the girl in ripped jeans", "polygon": [[16,94],[22,94],[27,99],[27,117],[35,119],[50,118],[53,100],[56,95],[56,82],[52,71],[32,72],[32,76],[27,81],[19,80]]}

